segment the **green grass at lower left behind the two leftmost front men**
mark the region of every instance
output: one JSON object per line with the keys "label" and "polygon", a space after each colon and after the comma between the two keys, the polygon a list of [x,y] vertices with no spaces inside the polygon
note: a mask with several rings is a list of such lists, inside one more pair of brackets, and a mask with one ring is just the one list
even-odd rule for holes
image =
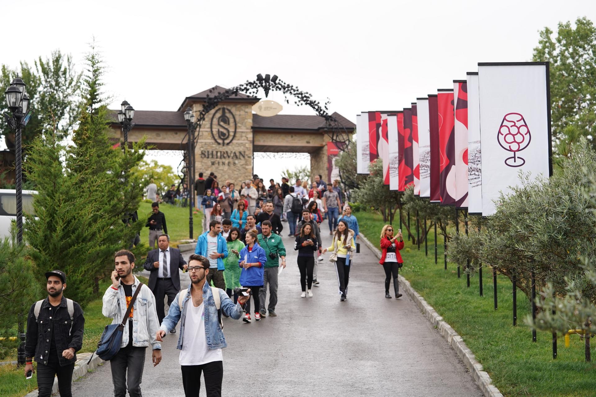
{"label": "green grass at lower left behind the two leftmost front men", "polygon": [[[146,277],[137,277],[142,283],[147,284],[149,282]],[[89,302],[83,312],[85,315],[85,332],[83,333],[83,347],[80,349],[80,353],[95,351],[104,327],[111,323],[110,318],[101,314],[102,296],[110,284],[111,280],[100,283],[100,296]],[[8,357],[4,360],[16,360],[16,351],[14,357]],[[36,366],[37,364],[33,362],[33,367]],[[16,365],[12,364],[0,365],[0,396],[22,397],[34,389],[37,389],[37,374],[33,374],[31,379],[25,379],[22,368],[17,368]]]}

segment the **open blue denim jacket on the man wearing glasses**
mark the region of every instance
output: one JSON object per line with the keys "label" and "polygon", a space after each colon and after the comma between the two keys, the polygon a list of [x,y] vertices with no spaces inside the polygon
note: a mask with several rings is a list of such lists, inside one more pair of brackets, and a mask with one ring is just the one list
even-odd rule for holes
{"label": "open blue denim jacket on the man wearing glasses", "polygon": [[[180,336],[178,337],[178,346],[176,346],[176,348],[179,350],[182,350],[182,339],[184,339],[184,320],[186,318],[187,305],[193,304],[193,302],[190,301],[191,286],[192,284],[188,286],[187,290],[178,292],[178,295],[181,293],[186,294],[182,300],[182,310],[180,310],[180,307],[178,306],[178,295],[176,295],[172,305],[170,305],[167,316],[162,321],[162,326],[159,327],[160,330],[164,330],[166,332],[167,336],[170,330],[174,329],[176,324],[178,324],[178,321],[181,321]],[[221,310],[224,311],[225,314],[229,315],[229,317],[234,318],[234,320],[238,320],[243,313],[240,303],[234,305],[234,302],[232,302],[232,299],[228,298],[228,295],[226,295],[224,290],[218,290],[219,299],[221,300]],[[225,342],[224,333],[219,327],[218,310],[215,307],[215,301],[213,300],[211,287],[207,283],[205,283],[203,286],[203,303],[205,307],[205,339],[207,339],[207,347],[210,350],[225,348],[227,344]]]}

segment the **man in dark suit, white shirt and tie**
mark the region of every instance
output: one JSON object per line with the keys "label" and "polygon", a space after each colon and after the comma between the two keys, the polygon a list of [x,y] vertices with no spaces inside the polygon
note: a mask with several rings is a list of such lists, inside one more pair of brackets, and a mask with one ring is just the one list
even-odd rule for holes
{"label": "man in dark suit, white shirt and tie", "polygon": [[[157,319],[162,324],[166,317],[163,299],[167,295],[167,305],[171,305],[176,294],[180,291],[180,274],[178,269],[185,270],[188,265],[182,258],[180,250],[170,248],[170,237],[160,235],[157,239],[158,249],[153,249],[147,254],[143,267],[151,272],[149,276],[149,289],[155,295]],[[176,333],[173,329],[172,333]]]}

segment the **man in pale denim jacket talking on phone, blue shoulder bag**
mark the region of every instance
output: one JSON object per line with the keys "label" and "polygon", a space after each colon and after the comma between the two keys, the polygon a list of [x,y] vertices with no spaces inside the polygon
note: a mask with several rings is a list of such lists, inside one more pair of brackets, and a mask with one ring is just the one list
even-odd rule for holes
{"label": "man in pale denim jacket talking on phone, blue shoulder bag", "polygon": [[[105,290],[101,312],[114,320],[123,321],[128,305],[137,288],[141,288],[128,315],[128,327],[122,333],[120,350],[110,360],[114,397],[125,397],[126,390],[131,397],[141,397],[141,379],[145,364],[145,349],[153,349],[153,366],[162,361],[162,345],[155,335],[159,329],[155,297],[148,286],[139,282],[132,274],[135,255],[122,249],[114,254],[116,270],[111,273],[112,285]],[[127,380],[128,372],[128,380]]]}

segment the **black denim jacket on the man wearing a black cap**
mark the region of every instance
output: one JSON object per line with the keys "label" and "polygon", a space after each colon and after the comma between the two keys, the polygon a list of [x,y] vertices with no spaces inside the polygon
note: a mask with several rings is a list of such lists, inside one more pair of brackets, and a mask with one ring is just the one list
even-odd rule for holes
{"label": "black denim jacket on the man wearing a black cap", "polygon": [[33,314],[34,308],[35,304],[31,305],[27,316],[25,357],[34,357],[35,361],[48,364],[48,352],[53,333],[60,367],[73,364],[76,361],[76,354],[70,360],[66,360],[62,357],[62,352],[70,348],[75,349],[75,352],[77,352],[83,346],[85,317],[83,317],[83,311],[79,304],[73,302],[73,308],[75,309],[73,321],[70,321],[64,296],[55,312],[52,312],[52,305],[49,304],[48,298],[45,298],[44,303],[42,303],[37,319]]}

